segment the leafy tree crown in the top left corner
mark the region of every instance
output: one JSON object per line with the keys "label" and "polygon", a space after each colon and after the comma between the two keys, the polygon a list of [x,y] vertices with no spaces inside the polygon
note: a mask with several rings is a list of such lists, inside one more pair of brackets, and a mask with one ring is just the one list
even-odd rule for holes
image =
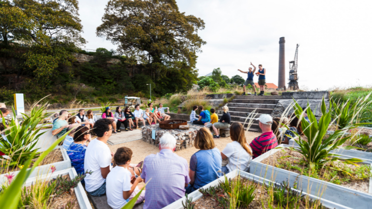
{"label": "leafy tree crown in the top left corner", "polygon": [[2,5],[6,5],[9,14],[0,12],[0,18],[20,20],[8,20],[9,24],[5,22],[1,26],[2,39],[20,40],[12,46],[26,47],[26,53],[20,56],[24,63],[19,67],[18,75],[22,71],[31,71],[39,85],[50,86],[58,75],[56,68],[60,64],[70,66],[74,60],[70,51],[86,43],[81,36],[83,26],[78,18],[78,2],[14,0]]}

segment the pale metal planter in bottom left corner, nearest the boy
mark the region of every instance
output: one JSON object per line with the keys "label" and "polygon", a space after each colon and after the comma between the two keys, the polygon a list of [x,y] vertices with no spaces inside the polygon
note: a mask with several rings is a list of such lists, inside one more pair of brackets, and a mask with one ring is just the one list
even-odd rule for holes
{"label": "pale metal planter in bottom left corner, nearest the boy", "polygon": [[[31,184],[33,184],[36,181],[36,179],[38,179],[38,180],[44,180],[45,178],[50,178],[51,179],[51,178],[56,177],[58,175],[66,175],[66,174],[68,174],[71,179],[74,178],[75,176],[77,176],[75,168],[68,168],[68,169],[64,169],[64,170],[60,170],[60,171],[55,171],[51,175],[50,174],[44,174],[44,175],[29,177],[26,180],[26,182],[24,183],[24,186],[26,186],[26,187],[31,186]],[[87,194],[85,193],[85,190],[83,188],[82,183],[79,183],[77,185],[77,187],[74,188],[74,191],[75,191],[75,195],[76,195],[77,202],[79,204],[80,209],[92,209],[92,206],[89,202]]]}

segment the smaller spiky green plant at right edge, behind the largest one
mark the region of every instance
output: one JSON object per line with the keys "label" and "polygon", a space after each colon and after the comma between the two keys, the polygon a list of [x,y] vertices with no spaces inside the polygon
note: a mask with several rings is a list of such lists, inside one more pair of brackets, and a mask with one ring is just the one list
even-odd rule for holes
{"label": "smaller spiky green plant at right edge, behind the largest one", "polygon": [[[372,93],[372,92],[371,92]],[[343,129],[349,124],[358,124],[360,121],[366,120],[368,118],[363,118],[362,116],[367,111],[367,107],[370,106],[372,100],[368,102],[368,98],[371,95],[369,93],[365,97],[358,98],[358,100],[351,105],[351,101],[346,101],[343,103],[335,102],[332,98],[330,100],[330,112],[332,118],[337,118],[336,126],[339,129]],[[362,124],[361,124],[362,125]]]}

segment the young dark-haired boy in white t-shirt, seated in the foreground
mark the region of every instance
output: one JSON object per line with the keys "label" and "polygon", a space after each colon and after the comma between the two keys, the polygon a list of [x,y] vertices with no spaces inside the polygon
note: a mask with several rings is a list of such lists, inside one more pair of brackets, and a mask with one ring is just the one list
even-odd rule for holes
{"label": "young dark-haired boy in white t-shirt, seated in the foreground", "polygon": [[[138,185],[142,182],[141,176],[136,178],[129,171],[132,155],[133,152],[128,147],[118,148],[114,155],[116,166],[111,169],[106,178],[107,203],[113,209],[122,208],[127,203],[127,199],[131,200],[144,187],[144,185]],[[131,184],[132,178],[136,179],[133,184]],[[145,190],[142,191],[136,204],[143,202],[145,193]]]}

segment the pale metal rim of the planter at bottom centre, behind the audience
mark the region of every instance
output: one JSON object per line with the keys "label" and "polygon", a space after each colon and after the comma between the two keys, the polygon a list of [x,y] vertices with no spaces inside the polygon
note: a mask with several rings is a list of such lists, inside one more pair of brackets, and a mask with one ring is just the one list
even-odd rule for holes
{"label": "pale metal rim of the planter at bottom centre, behind the audience", "polygon": [[[233,170],[231,172],[229,172],[228,174],[226,174],[227,178],[234,178],[236,177],[238,174],[240,173],[240,175],[252,182],[255,182],[255,183],[258,183],[260,185],[262,185],[263,183],[265,184],[270,184],[271,181],[270,180],[267,180],[265,178],[262,178],[262,177],[259,177],[257,175],[253,175],[251,173],[247,173],[247,172],[244,172],[244,171],[241,171],[241,170]],[[225,182],[225,177],[222,176],[220,178],[218,178],[217,180],[205,185],[204,187],[202,187],[203,189],[206,189],[206,188],[209,188],[209,187],[212,187],[212,186],[216,186],[219,182]],[[295,190],[295,189],[293,189]],[[295,190],[296,191],[296,190]],[[305,192],[302,192],[303,195],[308,195],[311,199],[315,200],[315,199],[320,199],[320,201],[322,202],[323,206],[325,207],[328,207],[328,208],[343,208],[343,209],[346,209],[346,208],[350,208],[350,207],[347,207],[347,206],[343,206],[343,205],[340,205],[340,204],[337,204],[335,202],[331,202],[331,201],[328,201],[326,199],[323,199],[323,198],[319,198],[317,196],[314,196],[314,195],[309,195]],[[196,190],[194,191],[193,193],[189,194],[188,195],[189,199],[190,198],[193,198],[193,202],[195,202],[196,200],[200,199],[201,197],[203,197],[203,195],[199,192],[199,190]],[[181,199],[173,202],[172,204],[166,206],[166,207],[163,207],[163,209],[183,209],[183,206],[182,206],[182,201],[185,201],[186,197],[182,197]]]}

